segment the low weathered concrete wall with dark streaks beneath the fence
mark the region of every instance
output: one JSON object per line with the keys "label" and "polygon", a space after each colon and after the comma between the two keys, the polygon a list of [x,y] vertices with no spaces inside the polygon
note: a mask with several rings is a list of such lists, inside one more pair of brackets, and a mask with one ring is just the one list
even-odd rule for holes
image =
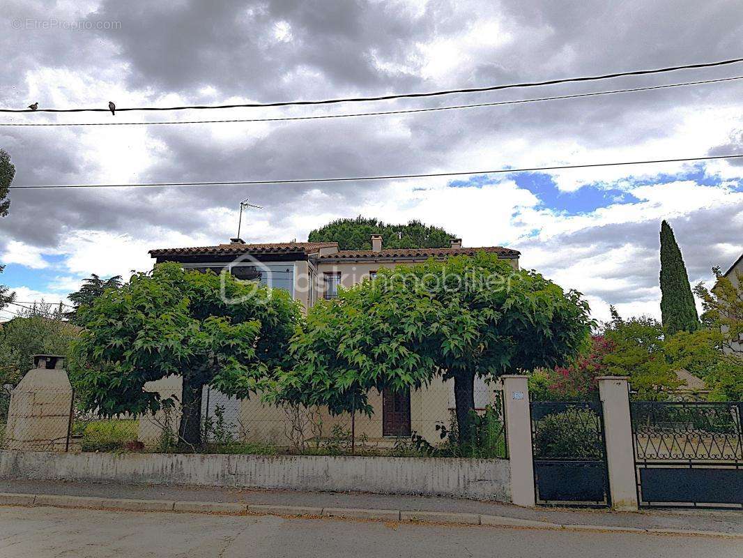
{"label": "low weathered concrete wall with dark streaks beneath the fence", "polygon": [[510,501],[507,460],[0,451],[0,478],[420,494]]}

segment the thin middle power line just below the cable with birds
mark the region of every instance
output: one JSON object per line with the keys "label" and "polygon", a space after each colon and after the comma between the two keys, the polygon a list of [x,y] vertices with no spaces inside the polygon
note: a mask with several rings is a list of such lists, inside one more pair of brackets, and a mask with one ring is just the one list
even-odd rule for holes
{"label": "thin middle power line just below the cable with birds", "polygon": [[635,87],[632,89],[612,89],[610,91],[600,91],[591,93],[579,93],[571,95],[556,95],[554,97],[536,97],[531,99],[518,99],[518,100],[500,100],[494,101],[493,103],[473,103],[464,105],[451,105],[451,106],[435,106],[429,109],[400,109],[400,110],[387,110],[377,112],[354,112],[347,115],[317,115],[317,116],[287,116],[280,118],[230,118],[225,120],[187,120],[187,121],[163,121],[163,122],[85,122],[85,123],[14,123],[14,122],[0,122],[0,126],[156,126],[158,124],[226,124],[226,123],[237,123],[237,122],[285,122],[285,121],[302,121],[302,120],[322,120],[327,118],[354,118],[358,116],[383,116],[383,115],[405,115],[414,112],[435,112],[439,110],[455,110],[455,109],[473,109],[476,107],[483,106],[502,106],[502,105],[516,105],[522,103],[536,103],[547,100],[562,100],[562,99],[577,99],[580,97],[596,97],[598,95],[609,95],[617,93],[634,93],[651,91],[653,89],[669,89],[671,87],[683,87],[683,86],[697,86],[704,85],[707,83],[721,83],[726,81],[743,80],[743,76],[736,77],[723,77],[718,80],[701,80],[701,81],[687,81],[682,83],[668,83],[663,86],[649,86],[649,87]]}

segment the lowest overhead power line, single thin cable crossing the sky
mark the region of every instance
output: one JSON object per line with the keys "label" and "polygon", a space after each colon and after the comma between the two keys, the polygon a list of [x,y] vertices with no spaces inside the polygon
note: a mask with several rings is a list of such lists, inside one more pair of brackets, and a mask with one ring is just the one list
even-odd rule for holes
{"label": "lowest overhead power line, single thin cable crossing the sky", "polygon": [[146,182],[139,184],[65,184],[65,185],[25,185],[13,186],[18,190],[33,190],[41,188],[117,188],[117,187],[163,187],[163,186],[235,186],[235,185],[276,185],[276,184],[306,184],[308,182],[361,182],[373,180],[395,180],[395,179],[421,179],[433,178],[437,176],[464,176],[472,174],[510,174],[510,173],[530,173],[539,170],[568,170],[568,169],[585,169],[593,167],[619,167],[631,164],[655,164],[655,163],[680,163],[687,161],[710,161],[713,159],[732,159],[743,158],[740,155],[713,155],[709,157],[684,157],[684,158],[667,158],[653,159],[643,161],[620,161],[611,163],[587,163],[587,164],[568,164],[554,165],[550,167],[526,167],[519,169],[495,169],[495,170],[462,170],[450,173],[421,173],[421,174],[392,174],[380,176],[345,176],[340,178],[319,178],[319,179],[282,179],[282,180],[234,180],[224,182]]}

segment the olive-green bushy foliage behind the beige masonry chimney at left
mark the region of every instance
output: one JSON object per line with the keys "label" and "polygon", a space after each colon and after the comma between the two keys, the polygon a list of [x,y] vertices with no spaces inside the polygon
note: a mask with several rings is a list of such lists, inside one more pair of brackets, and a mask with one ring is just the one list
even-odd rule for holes
{"label": "olive-green bushy foliage behind the beige masonry chimney at left", "polygon": [[0,385],[16,385],[33,368],[35,354],[67,356],[80,328],[62,319],[59,307],[34,304],[0,328]]}

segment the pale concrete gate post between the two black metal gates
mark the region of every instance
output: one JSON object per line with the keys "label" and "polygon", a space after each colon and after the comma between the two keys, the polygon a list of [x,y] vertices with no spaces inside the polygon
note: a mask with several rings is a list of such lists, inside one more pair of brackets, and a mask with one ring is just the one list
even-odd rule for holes
{"label": "pale concrete gate post between the two black metal gates", "polygon": [[614,510],[637,511],[635,449],[629,416],[629,385],[626,376],[601,376],[599,394],[603,403],[606,466]]}

